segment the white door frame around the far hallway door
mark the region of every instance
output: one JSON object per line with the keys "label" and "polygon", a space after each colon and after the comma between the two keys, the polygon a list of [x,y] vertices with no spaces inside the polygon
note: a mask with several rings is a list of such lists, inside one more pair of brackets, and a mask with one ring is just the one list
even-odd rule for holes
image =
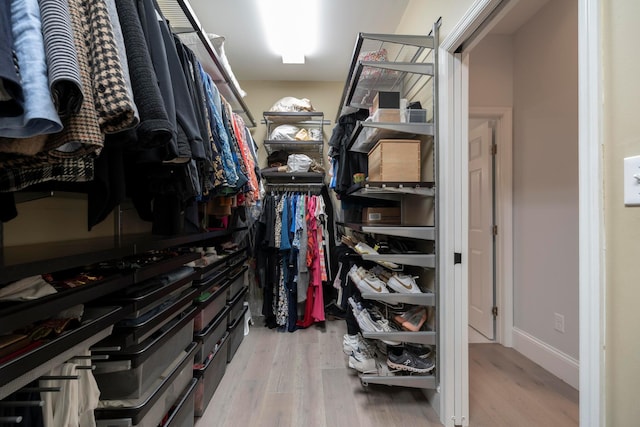
{"label": "white door frame around the far hallway door", "polygon": [[513,347],[513,109],[511,107],[469,107],[470,119],[495,120],[498,152],[495,168],[496,319],[495,342]]}

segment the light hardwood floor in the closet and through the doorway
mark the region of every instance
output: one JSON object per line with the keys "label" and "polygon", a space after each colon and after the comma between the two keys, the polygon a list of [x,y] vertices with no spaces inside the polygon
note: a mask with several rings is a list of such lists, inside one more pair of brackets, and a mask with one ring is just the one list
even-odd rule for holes
{"label": "light hardwood floor in the closet and through the doorway", "polygon": [[[295,333],[259,325],[244,337],[196,427],[442,425],[421,390],[361,386],[342,352],[344,322]],[[577,425],[575,390],[559,387],[526,362],[519,368],[517,353],[503,356],[478,346],[470,347],[472,426]]]}

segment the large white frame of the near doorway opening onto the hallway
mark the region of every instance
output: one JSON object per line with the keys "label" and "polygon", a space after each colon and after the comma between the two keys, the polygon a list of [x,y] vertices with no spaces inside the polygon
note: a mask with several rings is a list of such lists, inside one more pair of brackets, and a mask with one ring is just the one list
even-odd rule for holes
{"label": "large white frame of the near doorway opening onto the hallway", "polygon": [[[504,0],[515,4],[518,0]],[[603,212],[603,135],[601,122],[602,0],[578,0],[578,161],[579,161],[579,310],[580,310],[580,425],[605,425],[606,281]],[[453,252],[467,253],[469,120],[468,55],[458,52],[463,42],[479,41],[509,8],[491,17],[503,0],[476,0],[444,38],[438,49],[439,182],[441,281],[440,346],[447,363],[441,372],[441,421],[445,426],[469,425],[468,275],[467,260],[453,261]],[[488,21],[489,20],[489,21]],[[483,25],[485,21],[489,25]],[[480,29],[480,30],[479,30]],[[478,34],[474,34],[478,31]],[[450,209],[450,210],[449,210]],[[449,212],[449,216],[442,215]],[[451,215],[453,212],[453,215]],[[451,323],[449,323],[451,322]],[[447,325],[451,325],[448,326]]]}

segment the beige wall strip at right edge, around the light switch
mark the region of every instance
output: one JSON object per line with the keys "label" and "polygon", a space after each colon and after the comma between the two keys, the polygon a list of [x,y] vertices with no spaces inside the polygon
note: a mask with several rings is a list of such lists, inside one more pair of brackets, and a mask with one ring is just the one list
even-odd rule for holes
{"label": "beige wall strip at right edge, around the light switch", "polygon": [[624,157],[640,155],[640,2],[602,0],[607,426],[638,425],[640,208],[625,207]]}

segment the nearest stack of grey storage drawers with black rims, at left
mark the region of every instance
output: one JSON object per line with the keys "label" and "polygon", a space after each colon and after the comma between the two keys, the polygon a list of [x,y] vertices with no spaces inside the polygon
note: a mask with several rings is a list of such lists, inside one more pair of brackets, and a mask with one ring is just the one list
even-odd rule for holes
{"label": "nearest stack of grey storage drawers with black rims, at left", "polygon": [[131,312],[92,349],[101,358],[94,371],[101,393],[98,427],[194,423],[196,272],[160,263],[146,274],[155,276],[113,297]]}

